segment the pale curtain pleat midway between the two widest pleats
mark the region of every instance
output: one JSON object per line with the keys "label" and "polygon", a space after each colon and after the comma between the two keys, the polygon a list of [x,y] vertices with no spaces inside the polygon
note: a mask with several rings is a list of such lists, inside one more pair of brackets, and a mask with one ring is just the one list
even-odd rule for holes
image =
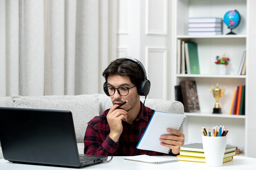
{"label": "pale curtain pleat midway between the two widest pleats", "polygon": [[50,0],[50,84],[51,95],[64,95],[65,2]]}

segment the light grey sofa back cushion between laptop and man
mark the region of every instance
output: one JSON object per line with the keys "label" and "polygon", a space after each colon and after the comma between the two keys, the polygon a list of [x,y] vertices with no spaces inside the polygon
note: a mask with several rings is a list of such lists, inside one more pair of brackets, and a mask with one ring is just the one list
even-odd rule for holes
{"label": "light grey sofa back cushion between laptop and man", "polygon": [[97,98],[91,95],[66,96],[64,99],[58,99],[58,96],[22,97],[20,95],[11,95],[11,99],[17,108],[70,110],[74,120],[78,143],[83,143],[87,123],[93,117],[99,115]]}

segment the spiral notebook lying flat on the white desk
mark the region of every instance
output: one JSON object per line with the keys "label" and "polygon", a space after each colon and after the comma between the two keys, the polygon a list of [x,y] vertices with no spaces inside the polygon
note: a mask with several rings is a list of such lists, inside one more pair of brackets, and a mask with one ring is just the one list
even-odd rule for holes
{"label": "spiral notebook lying flat on the white desk", "polygon": [[171,163],[179,161],[177,158],[163,158],[163,157],[153,157],[149,155],[137,155],[132,157],[124,157],[125,160],[129,161],[138,161],[138,162],[145,162],[145,163],[155,163],[155,164],[162,164],[162,163]]}

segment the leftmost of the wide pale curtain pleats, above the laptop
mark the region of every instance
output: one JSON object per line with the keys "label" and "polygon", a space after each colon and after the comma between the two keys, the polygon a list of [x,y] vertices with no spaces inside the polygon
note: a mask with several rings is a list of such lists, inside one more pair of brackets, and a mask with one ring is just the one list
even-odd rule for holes
{"label": "leftmost of the wide pale curtain pleats, above the laptop", "polygon": [[[20,5],[21,6],[21,5]],[[20,19],[20,94],[44,95],[43,0],[25,0]],[[21,11],[21,9],[20,9]]]}

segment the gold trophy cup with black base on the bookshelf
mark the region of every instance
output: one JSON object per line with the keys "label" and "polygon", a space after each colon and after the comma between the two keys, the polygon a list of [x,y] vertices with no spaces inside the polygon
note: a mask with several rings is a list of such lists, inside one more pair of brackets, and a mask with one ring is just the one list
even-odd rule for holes
{"label": "gold trophy cup with black base on the bookshelf", "polygon": [[213,94],[213,97],[216,100],[215,106],[213,108],[213,113],[222,113],[219,104],[219,99],[224,94],[225,87],[222,87],[222,89],[220,89],[219,84],[217,83],[215,88],[213,88],[212,86],[210,87],[210,92],[211,94]]}

